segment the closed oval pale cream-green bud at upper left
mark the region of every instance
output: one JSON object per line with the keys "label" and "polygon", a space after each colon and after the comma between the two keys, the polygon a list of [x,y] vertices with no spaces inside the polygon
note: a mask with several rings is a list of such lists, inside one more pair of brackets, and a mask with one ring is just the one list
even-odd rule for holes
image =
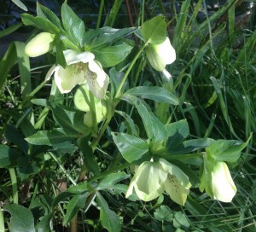
{"label": "closed oval pale cream-green bud at upper left", "polygon": [[54,47],[55,35],[49,32],[41,32],[26,44],[25,53],[30,57],[44,55]]}

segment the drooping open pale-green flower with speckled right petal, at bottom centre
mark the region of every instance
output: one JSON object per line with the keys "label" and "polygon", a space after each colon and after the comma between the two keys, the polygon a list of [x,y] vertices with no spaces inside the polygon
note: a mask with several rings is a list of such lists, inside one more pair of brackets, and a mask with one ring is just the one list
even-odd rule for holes
{"label": "drooping open pale-green flower with speckled right petal, at bottom centre", "polygon": [[189,177],[176,165],[165,159],[157,162],[143,162],[131,179],[125,197],[132,194],[133,188],[139,199],[144,201],[154,200],[165,190],[171,199],[183,206],[189,194]]}

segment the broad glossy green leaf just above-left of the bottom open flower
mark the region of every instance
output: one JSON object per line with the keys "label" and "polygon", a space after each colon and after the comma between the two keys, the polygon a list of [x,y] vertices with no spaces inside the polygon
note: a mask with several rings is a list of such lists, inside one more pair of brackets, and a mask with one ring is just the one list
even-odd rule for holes
{"label": "broad glossy green leaf just above-left of the bottom open flower", "polygon": [[143,139],[125,133],[112,133],[112,136],[113,142],[129,163],[136,164],[141,159],[150,159],[148,155],[149,145]]}

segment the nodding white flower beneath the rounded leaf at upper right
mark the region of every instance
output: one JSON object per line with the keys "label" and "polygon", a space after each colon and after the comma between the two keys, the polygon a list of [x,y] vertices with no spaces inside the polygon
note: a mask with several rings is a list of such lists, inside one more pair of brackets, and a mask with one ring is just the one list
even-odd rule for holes
{"label": "nodding white flower beneath the rounded leaf at upper right", "polygon": [[155,70],[164,72],[167,78],[171,78],[171,74],[166,70],[166,65],[172,64],[176,60],[176,53],[169,38],[166,38],[162,44],[149,44],[146,55]]}

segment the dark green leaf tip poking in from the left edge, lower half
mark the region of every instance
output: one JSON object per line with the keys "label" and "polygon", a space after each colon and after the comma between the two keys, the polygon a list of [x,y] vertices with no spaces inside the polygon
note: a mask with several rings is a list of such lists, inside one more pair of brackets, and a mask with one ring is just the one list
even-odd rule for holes
{"label": "dark green leaf tip poking in from the left edge, lower half", "polygon": [[14,149],[6,145],[0,145],[0,168],[11,165],[12,160],[20,156]]}

